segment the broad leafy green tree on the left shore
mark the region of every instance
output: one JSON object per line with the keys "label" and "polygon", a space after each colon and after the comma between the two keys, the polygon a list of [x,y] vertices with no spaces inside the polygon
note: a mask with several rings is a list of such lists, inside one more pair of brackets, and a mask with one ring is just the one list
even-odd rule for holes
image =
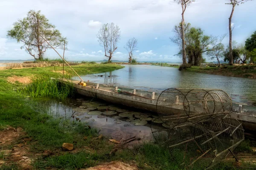
{"label": "broad leafy green tree on the left shore", "polygon": [[41,11],[30,10],[27,17],[18,20],[13,28],[8,31],[7,37],[22,42],[22,48],[35,59],[43,59],[44,53],[51,48],[41,37],[43,36],[53,48],[64,48],[67,38],[61,36],[59,30],[49,23],[49,20],[41,14]]}

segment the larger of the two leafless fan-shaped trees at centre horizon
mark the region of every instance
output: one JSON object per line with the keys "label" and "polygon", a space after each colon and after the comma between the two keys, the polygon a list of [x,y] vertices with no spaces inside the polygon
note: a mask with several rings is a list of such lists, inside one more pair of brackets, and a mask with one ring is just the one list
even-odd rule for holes
{"label": "larger of the two leafless fan-shaped trees at centre horizon", "polygon": [[105,57],[108,57],[108,62],[111,61],[114,51],[117,49],[117,42],[120,40],[120,28],[114,23],[103,24],[102,28],[99,29],[97,38],[99,44],[104,47]]}

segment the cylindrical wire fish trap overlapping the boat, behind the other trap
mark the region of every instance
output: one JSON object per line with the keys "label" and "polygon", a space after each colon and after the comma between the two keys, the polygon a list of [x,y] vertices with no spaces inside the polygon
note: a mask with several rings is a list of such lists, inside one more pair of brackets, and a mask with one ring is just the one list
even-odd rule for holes
{"label": "cylindrical wire fish trap overlapping the boat, behind the other trap", "polygon": [[187,120],[198,122],[205,117],[227,115],[231,107],[230,96],[214,89],[169,88],[157,99],[158,116],[172,127]]}

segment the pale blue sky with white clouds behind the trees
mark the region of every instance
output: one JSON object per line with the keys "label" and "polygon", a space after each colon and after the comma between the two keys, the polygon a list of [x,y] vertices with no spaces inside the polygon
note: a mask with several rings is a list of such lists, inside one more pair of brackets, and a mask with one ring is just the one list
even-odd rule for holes
{"label": "pale blue sky with white clouds behind the trees", "polygon": [[[229,0],[195,0],[186,9],[185,22],[202,28],[206,35],[227,34],[232,9],[225,4],[227,2]],[[138,47],[134,58],[138,61],[182,61],[175,55],[179,47],[169,39],[181,20],[181,6],[174,0],[0,0],[0,59],[33,59],[20,49],[22,44],[6,37],[13,23],[26,17],[31,9],[41,10],[41,14],[67,37],[65,58],[68,60],[108,59],[96,34],[102,24],[113,22],[121,29],[121,40],[112,59],[128,60],[124,45],[135,37]],[[255,16],[256,0],[236,6],[232,20],[233,40],[244,43],[256,31]],[[223,43],[228,44],[228,36]],[[49,49],[45,57],[58,56]]]}

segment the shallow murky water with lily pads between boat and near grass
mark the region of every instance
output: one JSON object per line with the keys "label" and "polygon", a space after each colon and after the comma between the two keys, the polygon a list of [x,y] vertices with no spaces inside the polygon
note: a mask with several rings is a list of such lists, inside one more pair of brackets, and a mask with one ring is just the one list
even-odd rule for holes
{"label": "shallow murky water with lily pads between boat and near grass", "polygon": [[[155,119],[156,114],[145,112],[142,110],[119,106],[119,105],[112,105],[110,103],[104,102],[104,101],[97,101],[92,98],[82,98],[79,100],[76,99],[69,99],[67,103],[61,103],[57,102],[55,100],[48,100],[48,101],[41,101],[41,105],[44,105],[48,108],[48,113],[51,113],[53,116],[61,119],[69,119],[70,121],[79,121],[79,122],[86,122],[91,127],[96,128],[100,134],[103,134],[104,136],[110,136],[113,139],[116,140],[125,140],[129,139],[133,136],[136,136],[137,138],[150,140],[152,139],[151,135],[151,121],[147,121],[148,123],[146,125],[140,125],[135,126],[131,124],[131,122],[127,122],[128,118],[121,118],[118,119],[116,116],[118,116],[121,111],[117,110],[115,115],[107,116],[105,118],[98,118],[98,115],[90,115],[88,114],[88,109],[90,108],[89,105],[83,105],[85,103],[90,103],[90,105],[97,105],[99,106],[110,106],[115,107],[118,109],[124,109],[126,111],[129,111],[130,113],[134,113],[134,111],[137,111],[137,113],[145,113],[148,115],[148,117],[151,117],[152,119]],[[79,107],[80,106],[80,107]],[[82,108],[81,108],[82,107]],[[111,108],[109,108],[111,109]],[[113,110],[113,109],[112,109]],[[106,111],[105,109],[97,109],[94,108],[91,111]],[[111,111],[111,110],[108,110]],[[103,115],[103,114],[101,114]],[[131,119],[137,119],[135,118],[135,115],[133,115],[133,118]],[[118,123],[116,123],[118,121]],[[161,124],[157,124],[153,126],[153,129],[161,129]]]}

